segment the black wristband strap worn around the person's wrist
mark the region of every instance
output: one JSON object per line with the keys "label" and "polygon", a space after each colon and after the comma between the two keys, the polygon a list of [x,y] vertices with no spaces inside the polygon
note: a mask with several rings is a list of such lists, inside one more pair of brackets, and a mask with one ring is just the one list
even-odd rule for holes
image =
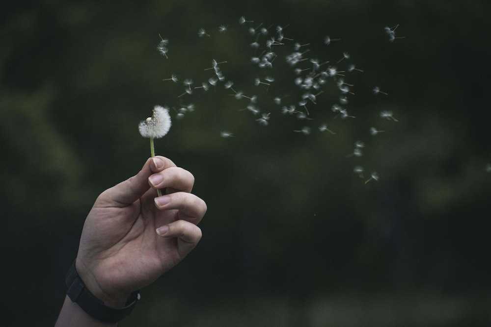
{"label": "black wristband strap worn around the person's wrist", "polygon": [[136,291],[130,295],[125,306],[122,308],[116,309],[105,305],[104,302],[97,299],[85,287],[85,284],[75,269],[75,261],[65,276],[65,283],[68,287],[66,294],[72,302],[77,303],[92,318],[104,323],[116,323],[128,316],[135,307],[136,302],[140,299],[140,293]]}

